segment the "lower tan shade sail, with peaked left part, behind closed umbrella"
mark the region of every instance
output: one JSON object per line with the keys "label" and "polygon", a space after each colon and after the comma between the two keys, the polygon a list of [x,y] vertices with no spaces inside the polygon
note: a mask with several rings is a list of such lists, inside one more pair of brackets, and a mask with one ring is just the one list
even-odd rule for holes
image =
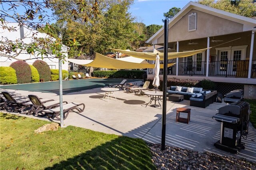
{"label": "lower tan shade sail, with peaked left part, behind closed umbrella", "polygon": [[[69,59],[68,59],[69,60]],[[85,61],[77,61],[78,59],[72,59],[73,63],[89,66],[89,67],[100,67],[100,68],[108,68],[108,69],[146,69],[146,68],[154,68],[154,64],[145,64],[145,63],[132,63],[127,61],[121,61],[118,59],[112,59],[110,57],[106,57],[105,55],[101,55],[96,53],[95,59],[87,64],[81,64]],[[72,62],[70,61],[70,62]],[[168,67],[174,65],[175,63],[169,63]],[[163,64],[160,64],[160,68],[163,68]]]}

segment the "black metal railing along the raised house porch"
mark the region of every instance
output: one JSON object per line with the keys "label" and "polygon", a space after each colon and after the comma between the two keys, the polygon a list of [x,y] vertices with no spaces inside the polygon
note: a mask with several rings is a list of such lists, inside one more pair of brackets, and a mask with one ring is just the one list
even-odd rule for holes
{"label": "black metal railing along the raised house porch", "polygon": [[[168,68],[168,75],[176,75],[174,64]],[[209,62],[209,76],[248,77],[249,60],[224,60]],[[162,69],[160,70],[160,74]],[[206,75],[206,61],[179,62],[178,75]],[[256,60],[252,60],[251,77],[256,78]]]}

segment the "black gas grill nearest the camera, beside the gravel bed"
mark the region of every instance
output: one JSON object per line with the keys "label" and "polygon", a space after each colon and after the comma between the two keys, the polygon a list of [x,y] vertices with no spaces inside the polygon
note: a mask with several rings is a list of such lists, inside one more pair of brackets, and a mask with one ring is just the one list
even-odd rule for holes
{"label": "black gas grill nearest the camera, beside the gravel bed", "polygon": [[217,148],[237,154],[244,143],[241,138],[247,138],[249,129],[250,105],[239,101],[219,109],[212,118],[220,122],[220,140],[214,143]]}

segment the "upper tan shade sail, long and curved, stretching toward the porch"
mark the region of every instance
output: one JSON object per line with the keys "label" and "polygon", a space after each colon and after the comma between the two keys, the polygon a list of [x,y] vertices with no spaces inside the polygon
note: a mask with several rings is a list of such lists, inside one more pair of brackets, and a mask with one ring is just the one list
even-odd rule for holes
{"label": "upper tan shade sail, long and curved, stretching toward the porch", "polygon": [[[141,58],[141,59],[148,59],[148,60],[155,60],[156,55],[158,54],[160,57],[160,60],[164,60],[164,53],[148,53],[148,52],[145,53],[145,52],[137,52],[137,51],[126,51],[126,50],[114,49],[114,48],[111,48],[111,49],[121,52],[121,53],[124,53],[126,55],[130,55],[130,56]],[[198,50],[194,50],[194,51],[168,53],[168,59],[188,57],[190,55],[195,55],[197,53],[203,52],[206,49],[208,49],[208,48],[198,49]]]}

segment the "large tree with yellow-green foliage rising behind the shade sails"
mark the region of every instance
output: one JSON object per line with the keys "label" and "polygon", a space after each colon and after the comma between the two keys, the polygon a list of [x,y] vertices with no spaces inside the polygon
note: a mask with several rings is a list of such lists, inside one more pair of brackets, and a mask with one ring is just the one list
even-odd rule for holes
{"label": "large tree with yellow-green foliage rising behind the shade sails", "polygon": [[[57,23],[65,25],[63,41],[76,40],[81,44],[78,49],[70,47],[70,57],[80,54],[87,54],[90,59],[94,57],[94,51],[99,53],[108,52],[111,48],[127,49],[131,48],[130,41],[134,39],[134,18],[128,13],[128,8],[132,0],[102,0],[98,4],[97,18],[92,18],[90,22],[81,22],[82,18],[77,16],[76,20],[66,9],[54,9],[54,16]],[[60,0],[58,3],[65,4],[67,9],[73,4]]]}

